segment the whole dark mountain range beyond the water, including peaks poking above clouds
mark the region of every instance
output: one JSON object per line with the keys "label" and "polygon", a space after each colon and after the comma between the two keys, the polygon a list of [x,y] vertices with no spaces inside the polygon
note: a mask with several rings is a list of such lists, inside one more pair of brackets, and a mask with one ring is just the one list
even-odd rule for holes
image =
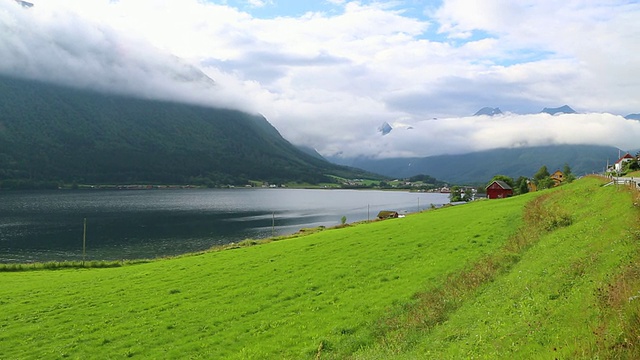
{"label": "whole dark mountain range beyond the water, including peaks poking above clouds", "polygon": [[[487,109],[487,115],[499,111]],[[568,111],[549,111],[555,110]],[[388,134],[392,127],[384,123],[379,131]],[[575,174],[601,171],[618,154],[613,147],[558,145],[424,158],[325,159],[310,147],[289,143],[261,115],[0,76],[4,187],[20,182],[318,183],[332,181],[329,175],[382,179],[420,174],[480,184],[496,174],[532,176],[542,165],[553,171],[568,164]]]}

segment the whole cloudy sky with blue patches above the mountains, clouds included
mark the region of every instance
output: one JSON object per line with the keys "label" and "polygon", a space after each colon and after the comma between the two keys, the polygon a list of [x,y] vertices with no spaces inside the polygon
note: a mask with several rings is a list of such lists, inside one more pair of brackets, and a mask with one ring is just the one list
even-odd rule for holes
{"label": "whole cloudy sky with blue patches above the mountains, clouds included", "polygon": [[0,0],[0,73],[260,113],[324,156],[640,148],[637,1],[30,2]]}

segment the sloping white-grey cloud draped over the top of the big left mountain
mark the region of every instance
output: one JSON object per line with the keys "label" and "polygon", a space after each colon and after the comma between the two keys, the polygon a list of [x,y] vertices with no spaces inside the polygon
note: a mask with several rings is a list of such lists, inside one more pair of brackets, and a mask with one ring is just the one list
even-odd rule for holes
{"label": "sloping white-grey cloud draped over the top of the big left mountain", "polygon": [[0,3],[0,72],[144,98],[255,111],[233,89],[147,41],[81,14]]}

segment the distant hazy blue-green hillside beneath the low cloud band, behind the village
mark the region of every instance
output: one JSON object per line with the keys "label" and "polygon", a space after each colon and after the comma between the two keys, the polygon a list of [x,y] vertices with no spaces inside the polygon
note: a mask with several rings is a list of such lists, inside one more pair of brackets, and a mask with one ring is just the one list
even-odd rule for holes
{"label": "distant hazy blue-green hillside beneath the low cloud band, behind the village", "polygon": [[568,164],[576,175],[603,171],[607,159],[618,159],[618,149],[595,145],[556,145],[531,148],[496,149],[462,155],[425,158],[328,158],[392,178],[429,174],[455,184],[482,184],[494,175],[531,177],[546,165],[549,171]]}

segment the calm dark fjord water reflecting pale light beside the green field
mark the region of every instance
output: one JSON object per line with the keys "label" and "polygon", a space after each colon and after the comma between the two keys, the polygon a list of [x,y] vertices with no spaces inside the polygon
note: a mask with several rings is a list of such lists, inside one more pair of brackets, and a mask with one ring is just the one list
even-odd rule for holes
{"label": "calm dark fjord water reflecting pale light beside the green field", "polygon": [[0,263],[157,258],[301,228],[415,212],[446,194],[374,190],[189,189],[0,192]]}

